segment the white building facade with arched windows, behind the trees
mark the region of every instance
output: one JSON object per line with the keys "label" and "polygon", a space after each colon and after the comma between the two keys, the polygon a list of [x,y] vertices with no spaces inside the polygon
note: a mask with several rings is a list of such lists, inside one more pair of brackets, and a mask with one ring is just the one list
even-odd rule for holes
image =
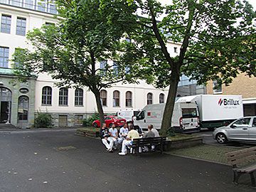
{"label": "white building facade with arched windows, behind the trees", "polygon": [[[32,127],[36,112],[48,112],[55,127],[80,125],[82,119],[97,112],[95,97],[87,87],[56,87],[55,81],[45,73],[26,83],[10,83],[15,79],[11,55],[16,48],[31,48],[26,42],[26,33],[45,23],[57,23],[54,4],[39,2],[0,0],[0,124]],[[169,52],[177,55],[179,47],[170,43]],[[105,114],[114,114],[119,110],[139,110],[147,104],[166,102],[167,94],[168,89],[159,90],[140,81],[139,84],[117,83],[102,90],[101,97]]]}

